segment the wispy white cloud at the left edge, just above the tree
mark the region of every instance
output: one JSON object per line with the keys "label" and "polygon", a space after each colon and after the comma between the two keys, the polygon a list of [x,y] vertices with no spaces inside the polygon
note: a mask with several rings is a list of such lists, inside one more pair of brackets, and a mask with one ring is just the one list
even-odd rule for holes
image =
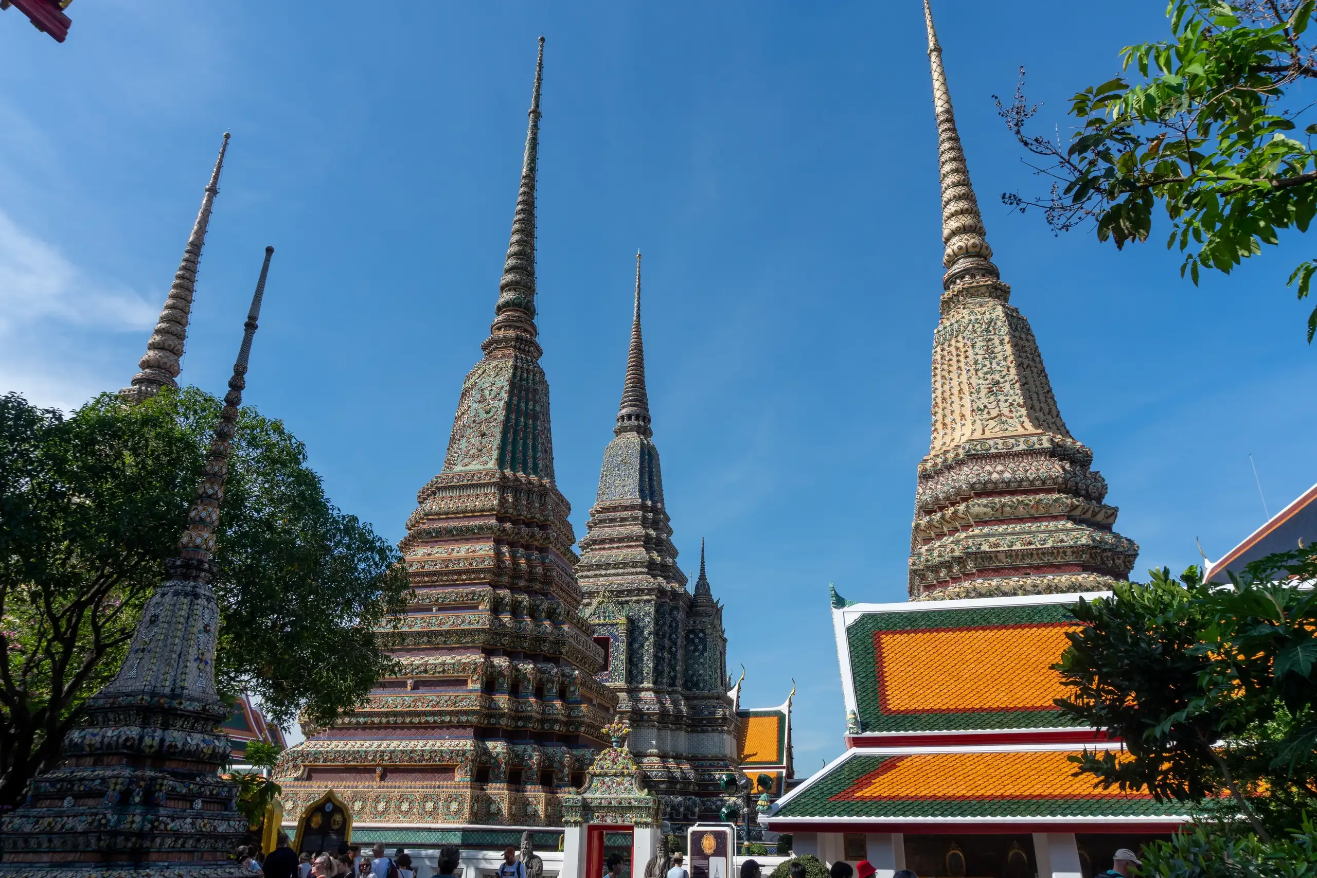
{"label": "wispy white cloud at the left edge, just above the tree", "polygon": [[107,374],[122,366],[107,333],[145,330],[158,308],[91,276],[0,211],[0,392],[68,411],[121,386],[128,375]]}

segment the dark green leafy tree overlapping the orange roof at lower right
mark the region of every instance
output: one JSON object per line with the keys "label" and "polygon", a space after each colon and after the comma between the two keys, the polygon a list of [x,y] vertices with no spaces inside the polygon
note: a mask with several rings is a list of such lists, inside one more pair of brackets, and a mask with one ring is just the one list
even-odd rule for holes
{"label": "dark green leafy tree overlapping the orange roof at lower right", "polygon": [[[1312,549],[1250,563],[1230,587],[1196,567],[1080,600],[1058,704],[1121,738],[1075,757],[1104,787],[1243,815],[1258,839],[1317,812],[1317,579]],[[1221,798],[1227,796],[1222,803]]]}

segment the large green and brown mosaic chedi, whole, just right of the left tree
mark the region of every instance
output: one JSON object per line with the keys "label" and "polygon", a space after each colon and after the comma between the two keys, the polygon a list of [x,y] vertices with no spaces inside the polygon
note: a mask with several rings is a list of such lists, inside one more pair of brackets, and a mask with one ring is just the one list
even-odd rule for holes
{"label": "large green and brown mosaic chedi, whole, just right of the left tree", "polygon": [[333,788],[354,827],[561,824],[616,696],[579,615],[535,325],[536,67],[520,191],[483,358],[402,541],[414,588],[381,629],[399,662],[366,704],[275,770],[284,812]]}

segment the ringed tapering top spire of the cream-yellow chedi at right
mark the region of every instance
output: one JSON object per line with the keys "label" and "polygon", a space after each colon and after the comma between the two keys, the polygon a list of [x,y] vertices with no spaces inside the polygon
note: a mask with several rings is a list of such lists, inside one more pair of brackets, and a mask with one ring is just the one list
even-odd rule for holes
{"label": "ringed tapering top spire of the cream-yellow chedi at right", "polygon": [[942,265],[947,269],[942,283],[946,290],[951,290],[956,280],[965,276],[996,280],[1000,275],[997,266],[992,263],[992,247],[985,237],[988,230],[979,212],[979,199],[969,183],[969,168],[956,130],[956,115],[951,109],[951,91],[947,88],[947,72],[942,68],[942,46],[932,26],[928,0],[923,0],[923,21],[928,28],[932,108],[938,117],[938,167],[942,171],[942,242],[946,245]]}

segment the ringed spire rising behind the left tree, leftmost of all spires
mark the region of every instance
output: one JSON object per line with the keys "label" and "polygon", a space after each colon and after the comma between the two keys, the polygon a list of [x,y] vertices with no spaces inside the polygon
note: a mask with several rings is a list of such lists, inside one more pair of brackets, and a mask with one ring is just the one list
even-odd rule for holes
{"label": "ringed spire rising behind the left tree, leftmost of all spires", "polygon": [[165,297],[165,308],[161,311],[155,329],[146,342],[146,354],[137,362],[142,371],[133,375],[129,387],[119,391],[121,396],[132,401],[140,401],[148,396],[154,396],[161,387],[178,388],[178,378],[183,357],[183,344],[187,341],[187,321],[192,313],[192,295],[196,292],[196,267],[202,261],[202,247],[205,245],[205,229],[211,222],[211,207],[215,196],[220,191],[220,170],[224,167],[224,153],[229,149],[229,133],[224,133],[224,142],[220,145],[220,155],[215,159],[215,170],[211,172],[211,182],[205,186],[202,196],[202,208],[196,212],[196,222],[192,224],[192,233],[187,237],[187,246],[183,247],[183,261],[174,274],[174,283]]}

